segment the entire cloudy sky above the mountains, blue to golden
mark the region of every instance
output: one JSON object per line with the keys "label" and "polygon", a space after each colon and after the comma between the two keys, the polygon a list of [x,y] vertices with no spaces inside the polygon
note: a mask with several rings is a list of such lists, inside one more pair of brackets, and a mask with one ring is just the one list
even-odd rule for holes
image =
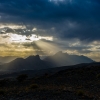
{"label": "entire cloudy sky above the mountains, blue to golden", "polygon": [[100,0],[0,0],[0,56],[58,51],[100,61]]}

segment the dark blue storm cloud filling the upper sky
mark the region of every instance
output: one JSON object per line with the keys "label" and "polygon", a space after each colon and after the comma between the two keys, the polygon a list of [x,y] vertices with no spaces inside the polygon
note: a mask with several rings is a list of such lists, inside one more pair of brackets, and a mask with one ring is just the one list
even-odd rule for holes
{"label": "dark blue storm cloud filling the upper sky", "polygon": [[46,30],[45,35],[61,39],[100,40],[99,0],[64,0],[58,3],[49,0],[0,0],[0,13],[1,22],[36,26]]}

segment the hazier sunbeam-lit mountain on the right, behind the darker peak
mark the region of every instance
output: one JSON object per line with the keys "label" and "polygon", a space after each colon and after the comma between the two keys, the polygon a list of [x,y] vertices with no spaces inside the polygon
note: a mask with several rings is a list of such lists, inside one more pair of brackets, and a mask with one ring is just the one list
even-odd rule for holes
{"label": "hazier sunbeam-lit mountain on the right, behind the darker peak", "polygon": [[44,60],[54,64],[56,67],[94,62],[86,56],[69,55],[62,51],[57,52],[53,56],[46,57]]}

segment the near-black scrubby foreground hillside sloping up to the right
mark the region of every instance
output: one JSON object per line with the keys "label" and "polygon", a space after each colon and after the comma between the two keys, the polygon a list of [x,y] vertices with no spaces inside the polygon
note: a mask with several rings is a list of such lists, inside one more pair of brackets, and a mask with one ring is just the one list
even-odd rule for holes
{"label": "near-black scrubby foreground hillside sloping up to the right", "polygon": [[100,100],[100,63],[79,64],[23,81],[0,80],[0,100]]}

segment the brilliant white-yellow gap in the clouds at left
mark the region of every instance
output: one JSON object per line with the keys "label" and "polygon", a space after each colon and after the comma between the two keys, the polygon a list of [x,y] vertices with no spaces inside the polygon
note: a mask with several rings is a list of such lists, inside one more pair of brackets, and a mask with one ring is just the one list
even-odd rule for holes
{"label": "brilliant white-yellow gap in the clouds at left", "polygon": [[48,40],[53,41],[53,37],[51,36],[37,36],[35,34],[26,36],[26,35],[19,35],[19,34],[13,34],[13,33],[6,33],[6,34],[0,34],[1,43],[13,43],[13,42],[34,42],[38,40]]}

